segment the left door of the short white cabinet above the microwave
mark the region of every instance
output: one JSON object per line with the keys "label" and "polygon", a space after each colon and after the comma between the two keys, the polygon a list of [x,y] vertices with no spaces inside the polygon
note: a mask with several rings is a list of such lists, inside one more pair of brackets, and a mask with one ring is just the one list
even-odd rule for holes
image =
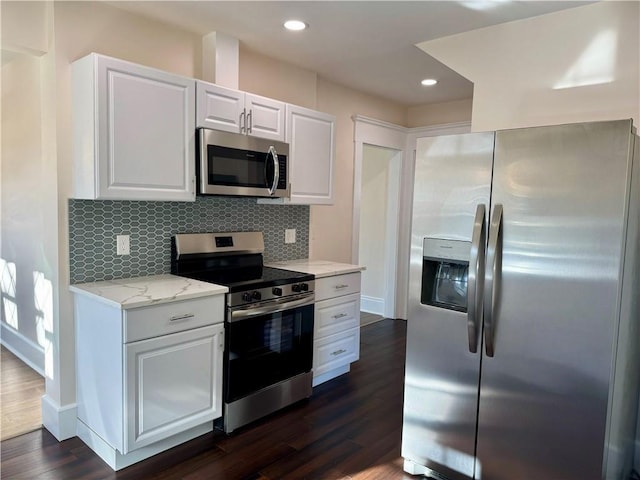
{"label": "left door of the short white cabinet above the microwave", "polygon": [[207,82],[196,82],[196,126],[244,133],[244,93]]}

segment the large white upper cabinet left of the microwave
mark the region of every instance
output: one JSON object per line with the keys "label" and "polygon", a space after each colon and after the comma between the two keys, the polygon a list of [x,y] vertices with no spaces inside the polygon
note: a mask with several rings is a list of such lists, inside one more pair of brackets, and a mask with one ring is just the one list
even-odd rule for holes
{"label": "large white upper cabinet left of the microwave", "polygon": [[92,53],[72,65],[74,197],[195,200],[195,80]]}

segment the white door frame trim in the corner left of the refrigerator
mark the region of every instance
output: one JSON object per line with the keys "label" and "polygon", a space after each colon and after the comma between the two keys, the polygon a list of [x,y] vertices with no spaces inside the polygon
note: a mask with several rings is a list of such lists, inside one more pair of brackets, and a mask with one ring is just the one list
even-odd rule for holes
{"label": "white door frame trim in the corner left of the refrigerator", "polygon": [[[354,115],[354,172],[353,172],[353,225],[351,258],[358,263],[360,248],[360,197],[362,195],[362,157],[365,144],[397,150],[401,165],[397,188],[389,185],[390,202],[396,202],[398,216],[388,223],[393,228],[385,252],[384,316],[407,318],[406,292],[409,285],[409,258],[411,249],[411,205],[413,203],[413,172],[416,142],[419,137],[466,133],[470,122],[451,123],[431,127],[406,128],[362,115]],[[392,165],[398,162],[392,160]],[[394,168],[391,166],[391,168]],[[390,178],[393,176],[391,173]],[[391,183],[391,182],[390,182]],[[391,206],[391,204],[389,204]],[[391,215],[393,216],[393,215]],[[395,227],[393,223],[395,222]],[[366,267],[366,265],[365,265]]]}

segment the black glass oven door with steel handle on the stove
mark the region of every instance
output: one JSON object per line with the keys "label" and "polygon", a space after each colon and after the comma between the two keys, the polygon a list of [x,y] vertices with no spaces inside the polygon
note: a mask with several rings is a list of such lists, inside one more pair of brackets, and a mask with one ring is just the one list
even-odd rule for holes
{"label": "black glass oven door with steel handle on the stove", "polygon": [[229,309],[225,402],[311,372],[314,295]]}

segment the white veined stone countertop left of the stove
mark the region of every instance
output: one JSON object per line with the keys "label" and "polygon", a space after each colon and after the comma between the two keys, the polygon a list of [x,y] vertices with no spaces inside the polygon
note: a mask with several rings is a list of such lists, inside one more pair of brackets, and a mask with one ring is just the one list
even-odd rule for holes
{"label": "white veined stone countertop left of the stove", "polygon": [[170,274],[79,283],[70,285],[69,289],[122,309],[223,295],[229,291],[221,285]]}

